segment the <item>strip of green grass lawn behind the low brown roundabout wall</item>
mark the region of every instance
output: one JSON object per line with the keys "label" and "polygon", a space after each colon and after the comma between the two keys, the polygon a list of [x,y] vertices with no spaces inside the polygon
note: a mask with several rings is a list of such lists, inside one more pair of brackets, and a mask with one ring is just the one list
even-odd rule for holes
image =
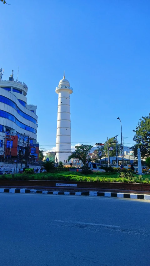
{"label": "strip of green grass lawn behind the low brown roundabout wall", "polygon": [[84,181],[84,182],[136,182],[136,183],[149,183],[150,175],[139,176],[134,174],[131,179],[122,178],[119,173],[93,173],[89,175],[80,172],[59,171],[53,173],[39,173],[39,174],[14,174],[0,176],[0,179],[15,179],[15,180],[57,180],[57,181]]}

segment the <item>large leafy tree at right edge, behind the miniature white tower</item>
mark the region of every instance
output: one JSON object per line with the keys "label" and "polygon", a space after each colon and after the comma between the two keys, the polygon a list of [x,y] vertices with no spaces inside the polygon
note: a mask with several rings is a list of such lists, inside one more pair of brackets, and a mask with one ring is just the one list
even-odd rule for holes
{"label": "large leafy tree at right edge, behind the miniature white tower", "polygon": [[140,118],[133,140],[136,142],[136,145],[132,146],[134,151],[134,156],[137,157],[138,147],[141,150],[141,156],[150,156],[150,113],[148,116]]}

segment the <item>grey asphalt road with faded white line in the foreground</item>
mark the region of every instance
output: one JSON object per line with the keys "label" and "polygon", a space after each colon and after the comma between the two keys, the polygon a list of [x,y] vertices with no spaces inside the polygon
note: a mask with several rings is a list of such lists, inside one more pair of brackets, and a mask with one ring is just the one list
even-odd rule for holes
{"label": "grey asphalt road with faded white line in the foreground", "polygon": [[150,202],[0,194],[0,265],[149,266]]}

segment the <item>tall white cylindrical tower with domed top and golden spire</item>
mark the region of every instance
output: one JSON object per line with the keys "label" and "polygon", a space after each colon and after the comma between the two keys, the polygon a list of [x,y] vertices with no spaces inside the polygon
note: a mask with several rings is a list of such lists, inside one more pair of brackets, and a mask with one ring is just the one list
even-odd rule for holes
{"label": "tall white cylindrical tower with domed top and golden spire", "polygon": [[65,79],[65,72],[55,91],[58,93],[57,159],[58,162],[68,163],[68,157],[71,155],[70,94],[73,93],[73,88],[70,87],[69,81]]}

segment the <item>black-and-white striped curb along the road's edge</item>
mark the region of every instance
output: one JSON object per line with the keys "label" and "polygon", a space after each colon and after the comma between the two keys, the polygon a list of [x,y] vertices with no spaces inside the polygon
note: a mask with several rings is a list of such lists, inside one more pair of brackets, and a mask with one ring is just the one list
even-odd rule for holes
{"label": "black-and-white striped curb along the road's edge", "polygon": [[76,196],[101,196],[101,197],[117,197],[117,198],[128,198],[128,199],[144,199],[150,200],[150,195],[145,194],[129,194],[129,193],[114,193],[114,192],[97,192],[97,191],[86,191],[86,192],[60,192],[60,191],[46,191],[37,189],[26,189],[26,188],[0,188],[0,193],[41,193],[41,194],[53,194],[53,195],[76,195]]}

